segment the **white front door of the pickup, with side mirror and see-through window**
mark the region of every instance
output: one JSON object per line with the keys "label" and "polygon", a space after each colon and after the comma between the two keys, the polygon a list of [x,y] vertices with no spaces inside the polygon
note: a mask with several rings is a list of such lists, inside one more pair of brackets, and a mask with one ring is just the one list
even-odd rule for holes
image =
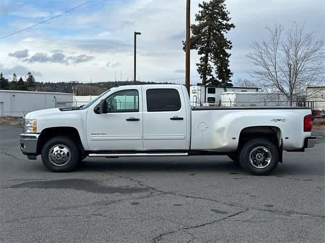
{"label": "white front door of the pickup, with side mirror and see-through window", "polygon": [[120,87],[120,90],[110,94],[106,100],[106,114],[96,114],[92,109],[88,111],[87,140],[90,150],[141,151],[143,149],[141,87],[128,89]]}

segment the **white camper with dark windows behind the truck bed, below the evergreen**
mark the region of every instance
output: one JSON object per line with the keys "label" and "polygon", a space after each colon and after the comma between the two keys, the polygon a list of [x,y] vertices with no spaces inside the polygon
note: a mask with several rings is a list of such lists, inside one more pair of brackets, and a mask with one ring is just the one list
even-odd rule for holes
{"label": "white camper with dark windows behind the truck bed, below the evergreen", "polygon": [[189,98],[191,106],[201,106],[204,103],[219,104],[223,92],[258,92],[256,87],[216,87],[196,85],[190,87]]}

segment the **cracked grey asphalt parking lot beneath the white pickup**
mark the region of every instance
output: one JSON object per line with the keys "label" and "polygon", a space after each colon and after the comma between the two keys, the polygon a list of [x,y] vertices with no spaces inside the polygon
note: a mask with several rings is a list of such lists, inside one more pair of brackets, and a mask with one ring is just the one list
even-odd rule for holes
{"label": "cracked grey asphalt parking lot beneath the white pickup", "polygon": [[85,159],[51,173],[0,126],[0,242],[324,242],[325,131],[257,177],[226,156]]}

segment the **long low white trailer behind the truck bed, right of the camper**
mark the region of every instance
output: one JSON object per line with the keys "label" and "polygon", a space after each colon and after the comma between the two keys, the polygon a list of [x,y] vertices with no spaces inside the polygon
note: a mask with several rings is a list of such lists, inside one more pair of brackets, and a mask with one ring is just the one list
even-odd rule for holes
{"label": "long low white trailer behind the truck bed, right of the camper", "polygon": [[263,92],[224,92],[221,106],[287,106],[284,95]]}

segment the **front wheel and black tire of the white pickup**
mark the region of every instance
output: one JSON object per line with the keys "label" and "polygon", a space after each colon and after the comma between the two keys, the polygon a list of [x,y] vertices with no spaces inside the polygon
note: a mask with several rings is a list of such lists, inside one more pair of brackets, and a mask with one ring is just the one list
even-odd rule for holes
{"label": "front wheel and black tire of the white pickup", "polygon": [[54,137],[47,141],[42,148],[42,162],[52,172],[71,172],[77,167],[79,159],[78,146],[68,137]]}

